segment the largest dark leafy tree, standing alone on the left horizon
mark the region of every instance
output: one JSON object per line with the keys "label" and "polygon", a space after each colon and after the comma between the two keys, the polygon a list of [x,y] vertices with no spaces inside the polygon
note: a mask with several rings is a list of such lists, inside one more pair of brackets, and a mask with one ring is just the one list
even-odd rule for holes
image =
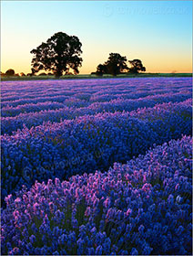
{"label": "largest dark leafy tree, standing alone on the left horizon", "polygon": [[77,74],[82,64],[81,47],[78,37],[68,36],[63,32],[56,33],[30,52],[35,55],[32,59],[32,73],[44,69],[53,71],[56,77],[60,77],[64,71],[73,69]]}

